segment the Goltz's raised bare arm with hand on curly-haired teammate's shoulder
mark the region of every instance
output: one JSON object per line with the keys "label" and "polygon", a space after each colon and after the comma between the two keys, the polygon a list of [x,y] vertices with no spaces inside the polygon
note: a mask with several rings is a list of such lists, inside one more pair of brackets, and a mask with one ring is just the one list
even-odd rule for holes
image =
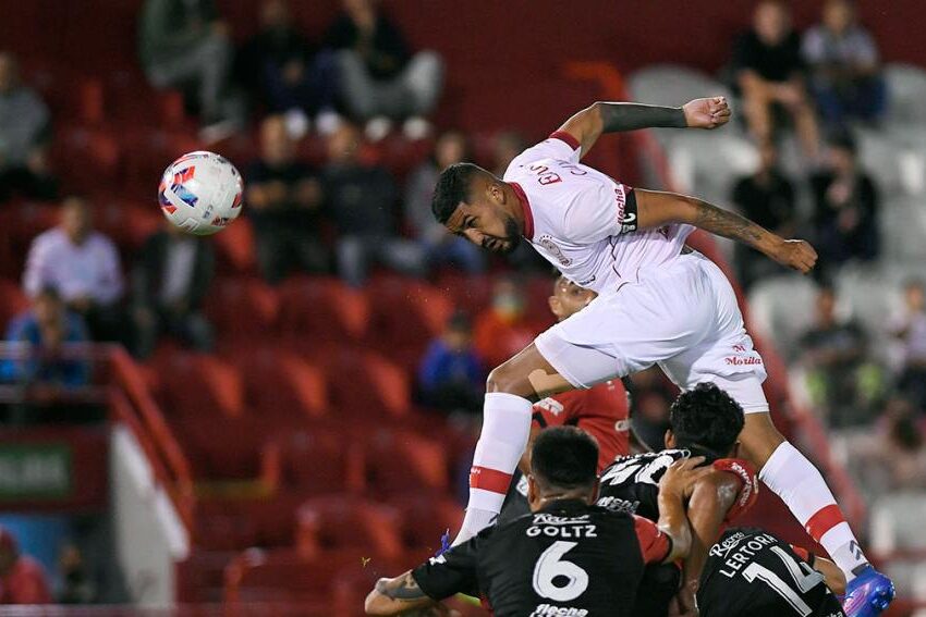
{"label": "Goltz's raised bare arm with hand on curly-haired teammate's shoulder", "polygon": [[691,551],[692,531],[683,502],[691,496],[695,482],[710,473],[709,467],[697,467],[703,462],[703,456],[677,460],[659,480],[659,520],[656,526],[672,540],[672,550],[663,564],[683,559]]}

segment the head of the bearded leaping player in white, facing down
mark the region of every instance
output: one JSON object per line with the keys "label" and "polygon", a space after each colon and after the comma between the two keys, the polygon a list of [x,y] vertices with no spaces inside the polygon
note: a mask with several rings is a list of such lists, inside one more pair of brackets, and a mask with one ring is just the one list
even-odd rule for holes
{"label": "head of the bearded leaping player in white, facing down", "polygon": [[508,254],[521,243],[521,208],[505,183],[473,163],[452,164],[440,174],[431,210],[440,224],[492,252]]}

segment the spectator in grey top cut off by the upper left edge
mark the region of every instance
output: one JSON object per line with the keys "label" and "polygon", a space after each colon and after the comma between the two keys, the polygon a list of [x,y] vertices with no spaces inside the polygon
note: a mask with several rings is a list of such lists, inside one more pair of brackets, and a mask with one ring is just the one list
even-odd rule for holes
{"label": "spectator in grey top cut off by the upper left edge", "polygon": [[16,59],[0,52],[0,202],[13,193],[54,197],[58,183],[46,156],[49,120],[41,98],[20,82]]}

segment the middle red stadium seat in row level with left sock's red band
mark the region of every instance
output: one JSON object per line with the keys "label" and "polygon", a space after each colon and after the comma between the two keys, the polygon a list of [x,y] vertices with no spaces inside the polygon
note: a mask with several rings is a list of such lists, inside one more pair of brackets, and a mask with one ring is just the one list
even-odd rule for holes
{"label": "middle red stadium seat in row level with left sock's red band", "polygon": [[263,478],[277,491],[314,496],[360,493],[364,488],[363,444],[341,431],[319,428],[269,440]]}

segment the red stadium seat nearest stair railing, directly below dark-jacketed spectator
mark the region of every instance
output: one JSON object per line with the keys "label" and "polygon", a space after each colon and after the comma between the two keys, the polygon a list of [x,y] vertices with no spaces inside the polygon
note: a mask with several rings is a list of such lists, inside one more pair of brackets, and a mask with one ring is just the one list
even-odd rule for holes
{"label": "red stadium seat nearest stair railing, directly below dark-jacketed spectator", "polygon": [[215,418],[244,414],[244,382],[231,365],[207,354],[179,351],[156,355],[161,398],[169,416],[202,414]]}

